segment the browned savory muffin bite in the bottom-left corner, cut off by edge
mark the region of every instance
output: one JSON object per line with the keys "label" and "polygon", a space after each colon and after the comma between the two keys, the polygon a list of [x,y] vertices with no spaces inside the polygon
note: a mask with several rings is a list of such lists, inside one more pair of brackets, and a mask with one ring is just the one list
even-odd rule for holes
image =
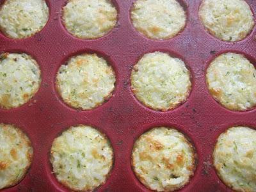
{"label": "browned savory muffin bite in the bottom-left corner, cut off by edge", "polygon": [[0,124],[0,189],[14,186],[25,177],[32,156],[26,134],[13,125]]}

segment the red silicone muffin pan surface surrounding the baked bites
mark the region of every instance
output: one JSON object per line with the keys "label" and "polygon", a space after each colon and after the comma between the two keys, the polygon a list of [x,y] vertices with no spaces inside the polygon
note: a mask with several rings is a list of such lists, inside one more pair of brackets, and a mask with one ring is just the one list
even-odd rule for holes
{"label": "red silicone muffin pan surface surrounding the baked bites", "polygon": [[[3,3],[3,1],[1,1]],[[150,40],[133,28],[130,11],[134,0],[115,0],[118,24],[106,36],[81,40],[70,35],[61,22],[61,10],[67,0],[46,0],[50,16],[42,31],[23,40],[0,34],[1,52],[26,52],[33,56],[42,71],[42,83],[35,97],[20,108],[0,109],[0,122],[15,124],[31,139],[34,156],[26,177],[3,191],[68,191],[52,173],[49,151],[52,141],[71,125],[86,124],[106,133],[115,152],[113,170],[97,191],[148,191],[132,172],[131,151],[136,138],[152,127],[176,127],[184,132],[196,148],[198,164],[191,181],[180,191],[231,191],[218,178],[212,166],[216,139],[228,127],[256,127],[256,109],[229,111],[209,94],[205,72],[213,58],[234,51],[246,55],[256,65],[256,29],[239,42],[223,42],[209,35],[198,19],[201,0],[180,0],[187,13],[187,23],[179,35],[170,40]],[[256,1],[247,0],[253,13]],[[192,91],[188,100],[171,111],[145,108],[131,92],[132,66],[143,54],[165,51],[181,58],[191,71]],[[116,73],[113,97],[102,106],[77,111],[60,99],[55,80],[65,61],[83,52],[104,56]]]}

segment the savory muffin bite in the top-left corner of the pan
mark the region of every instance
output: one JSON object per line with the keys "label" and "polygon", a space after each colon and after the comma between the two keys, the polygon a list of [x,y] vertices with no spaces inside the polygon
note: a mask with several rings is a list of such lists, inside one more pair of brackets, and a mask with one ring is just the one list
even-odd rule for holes
{"label": "savory muffin bite in the top-left corner of the pan", "polygon": [[10,38],[27,38],[44,28],[48,17],[44,0],[5,0],[0,7],[0,29]]}

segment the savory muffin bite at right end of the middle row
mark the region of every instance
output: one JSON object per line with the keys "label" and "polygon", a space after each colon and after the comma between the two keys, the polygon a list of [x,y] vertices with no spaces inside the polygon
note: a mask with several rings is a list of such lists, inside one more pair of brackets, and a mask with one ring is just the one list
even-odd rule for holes
{"label": "savory muffin bite at right end of the middle row", "polygon": [[225,108],[244,111],[256,105],[256,69],[242,54],[221,54],[206,78],[209,92]]}

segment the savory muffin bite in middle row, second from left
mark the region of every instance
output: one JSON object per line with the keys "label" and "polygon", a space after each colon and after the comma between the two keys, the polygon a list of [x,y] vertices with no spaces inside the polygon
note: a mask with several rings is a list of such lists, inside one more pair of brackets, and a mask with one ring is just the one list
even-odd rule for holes
{"label": "savory muffin bite in middle row, second from left", "polygon": [[97,54],[81,54],[60,67],[56,86],[65,103],[85,110],[108,100],[115,81],[115,72],[106,60]]}

